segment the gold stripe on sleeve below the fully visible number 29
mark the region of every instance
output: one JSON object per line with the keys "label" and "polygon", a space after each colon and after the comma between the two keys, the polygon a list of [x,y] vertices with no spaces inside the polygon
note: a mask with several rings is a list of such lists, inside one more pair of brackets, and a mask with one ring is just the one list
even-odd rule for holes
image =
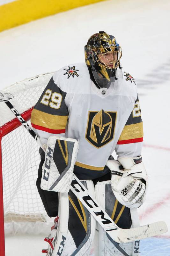
{"label": "gold stripe on sleeve below the fully visible number 29", "polygon": [[68,116],[57,116],[33,109],[31,123],[49,129],[65,129]]}

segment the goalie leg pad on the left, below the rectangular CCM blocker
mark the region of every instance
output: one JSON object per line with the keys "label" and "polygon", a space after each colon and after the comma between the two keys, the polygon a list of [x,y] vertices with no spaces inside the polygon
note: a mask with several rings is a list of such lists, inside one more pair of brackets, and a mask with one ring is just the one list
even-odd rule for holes
{"label": "goalie leg pad on the left, below the rectangular CCM blocker", "polygon": [[[82,181],[82,183],[94,196],[93,182],[88,180]],[[58,226],[48,236],[49,239],[53,238],[54,249],[49,244],[47,255],[90,255],[95,225],[95,219],[71,191],[69,194],[59,193]]]}

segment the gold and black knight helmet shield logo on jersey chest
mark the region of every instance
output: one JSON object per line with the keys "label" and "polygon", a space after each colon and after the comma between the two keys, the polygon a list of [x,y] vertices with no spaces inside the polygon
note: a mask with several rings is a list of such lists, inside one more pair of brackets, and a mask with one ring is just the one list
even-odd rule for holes
{"label": "gold and black knight helmet shield logo on jersey chest", "polygon": [[114,138],[117,112],[89,111],[85,138],[96,148]]}

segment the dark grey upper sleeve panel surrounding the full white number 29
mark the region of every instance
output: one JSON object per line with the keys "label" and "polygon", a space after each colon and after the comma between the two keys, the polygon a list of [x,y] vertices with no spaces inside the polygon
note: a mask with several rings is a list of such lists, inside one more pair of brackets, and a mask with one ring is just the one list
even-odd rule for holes
{"label": "dark grey upper sleeve panel surrounding the full white number 29", "polygon": [[[44,105],[43,103],[41,103],[41,99],[43,97],[43,95],[45,94],[46,90],[50,89],[52,91],[52,93],[56,92],[59,93],[63,96],[62,102],[61,102],[61,106],[59,109],[55,109],[55,108],[51,108],[48,104]],[[54,82],[53,78],[51,78],[48,82],[48,85],[46,86],[46,88],[44,89],[43,93],[41,94],[41,97],[39,98],[38,102],[35,104],[34,109],[48,113],[48,114],[52,114],[52,115],[58,115],[58,116],[68,116],[68,109],[67,106],[64,102],[65,96],[66,96],[66,92],[62,91]],[[50,102],[51,99],[49,99]]]}

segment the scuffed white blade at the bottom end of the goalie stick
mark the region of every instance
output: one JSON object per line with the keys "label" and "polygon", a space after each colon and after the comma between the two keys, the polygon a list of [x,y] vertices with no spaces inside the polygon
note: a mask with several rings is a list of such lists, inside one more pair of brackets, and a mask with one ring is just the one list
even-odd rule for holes
{"label": "scuffed white blade at the bottom end of the goalie stick", "polygon": [[128,243],[155,235],[166,233],[168,230],[164,221],[154,222],[141,227],[130,229],[117,229],[107,231],[108,235],[117,243]]}

